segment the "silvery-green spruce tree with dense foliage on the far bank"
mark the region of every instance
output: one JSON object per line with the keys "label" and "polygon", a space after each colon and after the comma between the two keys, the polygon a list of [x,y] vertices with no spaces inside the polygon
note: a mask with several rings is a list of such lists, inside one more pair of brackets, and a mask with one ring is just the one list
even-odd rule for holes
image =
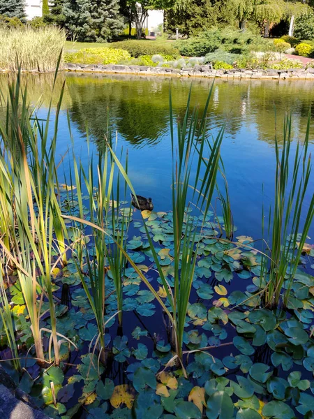
{"label": "silvery-green spruce tree with dense foliage on the far bank", "polygon": [[124,27],[119,0],[64,0],[63,15],[79,41],[109,41]]}

